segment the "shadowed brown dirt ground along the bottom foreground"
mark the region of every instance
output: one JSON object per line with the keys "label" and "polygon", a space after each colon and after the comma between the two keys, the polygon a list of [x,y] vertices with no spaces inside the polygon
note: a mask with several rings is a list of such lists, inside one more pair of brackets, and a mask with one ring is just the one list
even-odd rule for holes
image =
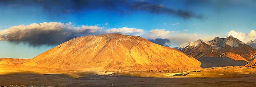
{"label": "shadowed brown dirt ground along the bottom foreground", "polygon": [[123,87],[168,87],[168,86],[233,86],[256,85],[256,76],[232,78],[139,78],[128,76],[85,75],[73,78],[68,74],[6,74],[0,75],[0,85],[44,85],[59,87],[123,86]]}

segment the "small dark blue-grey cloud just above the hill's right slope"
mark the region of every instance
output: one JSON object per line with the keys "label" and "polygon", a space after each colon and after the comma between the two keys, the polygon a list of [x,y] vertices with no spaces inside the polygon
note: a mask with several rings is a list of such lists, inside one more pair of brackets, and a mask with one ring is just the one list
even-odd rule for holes
{"label": "small dark blue-grey cloud just above the hill's right slope", "polygon": [[161,46],[166,46],[168,47],[169,45],[166,45],[166,43],[170,43],[170,40],[165,38],[165,39],[162,39],[162,38],[156,38],[156,39],[148,39],[148,41],[151,41],[155,44],[158,44],[158,45],[161,45]]}

